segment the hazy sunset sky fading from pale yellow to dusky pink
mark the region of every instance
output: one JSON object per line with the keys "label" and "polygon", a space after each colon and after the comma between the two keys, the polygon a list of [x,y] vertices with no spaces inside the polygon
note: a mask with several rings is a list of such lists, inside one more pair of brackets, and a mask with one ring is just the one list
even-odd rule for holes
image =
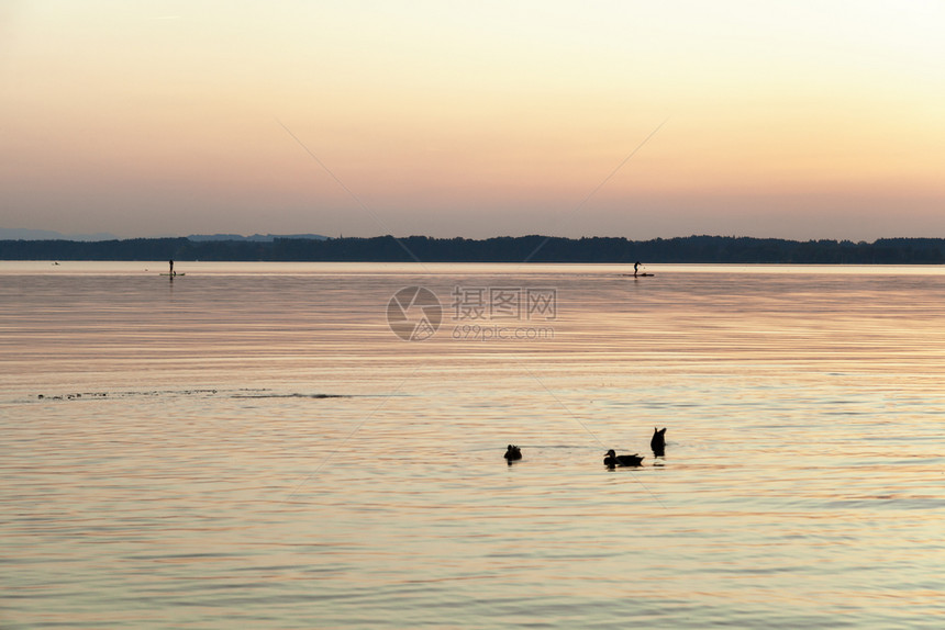
{"label": "hazy sunset sky fading from pale yellow to dusky pink", "polygon": [[945,237],[943,34],[934,0],[0,0],[0,227]]}

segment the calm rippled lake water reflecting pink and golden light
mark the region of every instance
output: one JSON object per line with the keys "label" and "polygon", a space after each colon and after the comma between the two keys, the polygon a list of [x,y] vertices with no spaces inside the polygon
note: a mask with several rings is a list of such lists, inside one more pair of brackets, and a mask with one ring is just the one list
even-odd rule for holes
{"label": "calm rippled lake water reflecting pink and golden light", "polygon": [[0,627],[945,622],[943,268],[176,268],[0,262]]}

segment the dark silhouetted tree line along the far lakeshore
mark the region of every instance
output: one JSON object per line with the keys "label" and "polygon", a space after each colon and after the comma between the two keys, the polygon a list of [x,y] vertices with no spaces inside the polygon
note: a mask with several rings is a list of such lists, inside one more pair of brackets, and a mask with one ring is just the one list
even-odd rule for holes
{"label": "dark silhouetted tree line along the far lakeshore", "polygon": [[[415,257],[415,258],[414,258]],[[377,236],[276,238],[271,241],[131,238],[121,240],[0,240],[0,260],[212,260],[344,262],[610,262],[938,265],[943,238],[788,240],[688,236],[630,240],[625,237],[500,236],[485,239]]]}

